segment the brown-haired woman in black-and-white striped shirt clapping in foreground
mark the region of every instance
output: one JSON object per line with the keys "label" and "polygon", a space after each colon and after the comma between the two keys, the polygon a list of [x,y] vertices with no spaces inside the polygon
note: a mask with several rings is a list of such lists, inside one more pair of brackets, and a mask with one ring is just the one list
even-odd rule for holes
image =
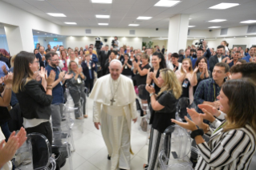
{"label": "brown-haired woman in black-and-white striped shirt clapping in foreground", "polygon": [[[219,124],[205,109],[202,109],[205,114],[200,115],[188,109],[193,121],[187,117],[187,123],[172,121],[189,129],[196,140],[200,157],[195,169],[248,169],[255,152],[256,87],[249,79],[230,80],[222,86],[217,99],[221,103],[220,110],[226,113],[226,120],[216,129],[203,123],[203,119],[207,119],[215,127]],[[203,140],[203,133],[210,136],[208,143]]]}

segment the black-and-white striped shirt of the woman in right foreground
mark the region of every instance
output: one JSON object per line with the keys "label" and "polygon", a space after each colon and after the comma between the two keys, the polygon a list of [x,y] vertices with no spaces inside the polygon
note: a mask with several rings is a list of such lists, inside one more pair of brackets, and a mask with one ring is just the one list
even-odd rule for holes
{"label": "black-and-white striped shirt of the woman in right foreground", "polygon": [[[226,121],[222,122],[226,123]],[[223,128],[213,133],[214,129],[206,135],[211,135],[208,144],[197,144],[198,154],[197,170],[208,169],[248,169],[250,160],[255,152],[255,132],[246,127],[223,132]]]}

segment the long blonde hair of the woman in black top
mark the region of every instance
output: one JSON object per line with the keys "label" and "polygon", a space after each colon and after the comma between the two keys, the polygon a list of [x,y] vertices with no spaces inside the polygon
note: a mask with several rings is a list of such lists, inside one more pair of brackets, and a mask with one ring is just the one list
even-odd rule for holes
{"label": "long blonde hair of the woman in black top", "polygon": [[161,77],[164,80],[164,84],[161,87],[161,90],[158,93],[158,96],[161,95],[164,91],[173,91],[173,95],[176,99],[179,99],[182,94],[181,83],[179,83],[175,73],[168,69],[164,68],[160,71]]}

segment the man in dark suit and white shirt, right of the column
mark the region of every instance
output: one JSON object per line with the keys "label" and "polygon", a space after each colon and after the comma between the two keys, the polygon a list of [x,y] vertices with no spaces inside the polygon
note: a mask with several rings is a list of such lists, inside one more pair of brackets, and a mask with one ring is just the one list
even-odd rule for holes
{"label": "man in dark suit and white shirt, right of the column", "polygon": [[212,74],[213,74],[213,67],[215,66],[215,64],[221,63],[221,62],[225,63],[226,57],[224,55],[222,55],[223,51],[225,51],[225,47],[218,46],[216,55],[213,55],[209,58],[209,71],[211,71]]}

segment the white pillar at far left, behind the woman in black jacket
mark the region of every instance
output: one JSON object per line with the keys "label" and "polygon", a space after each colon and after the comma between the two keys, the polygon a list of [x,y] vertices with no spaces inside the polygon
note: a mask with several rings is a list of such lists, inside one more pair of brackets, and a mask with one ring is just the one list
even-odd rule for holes
{"label": "white pillar at far left, behind the woman in black jacket", "polygon": [[17,55],[20,51],[33,52],[34,38],[31,29],[19,26],[5,25],[6,39],[10,55]]}

